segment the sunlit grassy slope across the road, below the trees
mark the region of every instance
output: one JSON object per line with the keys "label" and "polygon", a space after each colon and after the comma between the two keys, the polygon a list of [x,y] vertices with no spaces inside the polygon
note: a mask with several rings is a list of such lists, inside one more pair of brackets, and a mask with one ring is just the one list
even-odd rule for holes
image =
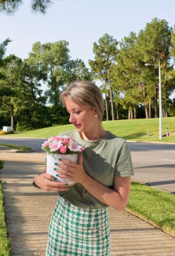
{"label": "sunlit grassy slope across the road, below the trees", "polygon": [[[159,141],[159,118],[103,121],[102,124],[105,130],[126,140]],[[166,128],[174,134],[169,137],[162,137],[162,141],[175,143],[175,117],[162,118],[162,134],[166,133]],[[62,131],[73,130],[75,127],[70,124],[54,126],[53,129],[54,135],[57,135]],[[148,131],[150,131],[150,137],[147,137]],[[49,138],[52,136],[52,127],[1,136]]]}

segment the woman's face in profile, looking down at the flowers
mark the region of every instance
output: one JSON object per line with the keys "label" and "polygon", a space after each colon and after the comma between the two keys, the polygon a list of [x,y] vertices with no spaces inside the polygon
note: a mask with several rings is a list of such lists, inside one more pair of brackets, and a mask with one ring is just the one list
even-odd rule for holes
{"label": "woman's face in profile, looking down at the flowers", "polygon": [[78,105],[71,99],[66,98],[66,107],[68,113],[70,113],[69,122],[75,125],[76,130],[81,132],[87,132],[93,128],[96,124],[97,117],[94,117],[96,110],[86,105]]}

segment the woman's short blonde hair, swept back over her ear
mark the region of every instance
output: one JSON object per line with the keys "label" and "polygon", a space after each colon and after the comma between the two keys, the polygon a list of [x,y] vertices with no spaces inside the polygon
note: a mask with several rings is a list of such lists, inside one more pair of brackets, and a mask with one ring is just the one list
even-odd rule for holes
{"label": "woman's short blonde hair, swept back over her ear", "polygon": [[103,96],[99,87],[90,81],[75,81],[60,94],[60,102],[66,107],[66,98],[79,105],[87,105],[98,112],[98,117],[103,120]]}

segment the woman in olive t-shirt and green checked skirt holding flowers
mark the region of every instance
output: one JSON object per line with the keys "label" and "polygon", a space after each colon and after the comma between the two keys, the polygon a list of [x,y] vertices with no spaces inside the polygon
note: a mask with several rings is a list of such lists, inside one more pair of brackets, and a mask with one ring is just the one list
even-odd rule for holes
{"label": "woman in olive t-shirt and green checked skirt holding flowers", "polygon": [[75,181],[70,188],[54,182],[46,170],[35,186],[59,191],[49,227],[46,256],[110,256],[108,206],[123,210],[130,193],[132,162],[126,141],[102,127],[103,97],[95,84],[76,81],[60,94],[75,130],[60,133],[80,141],[78,163],[55,163],[59,177]]}

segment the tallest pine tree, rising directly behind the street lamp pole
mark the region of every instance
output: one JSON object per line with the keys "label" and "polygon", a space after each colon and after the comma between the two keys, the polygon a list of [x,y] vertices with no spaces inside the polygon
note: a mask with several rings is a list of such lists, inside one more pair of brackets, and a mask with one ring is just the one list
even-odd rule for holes
{"label": "tallest pine tree, rising directly behind the street lamp pole", "polygon": [[[171,31],[167,21],[154,18],[151,23],[147,23],[144,30],[141,30],[138,35],[137,44],[140,48],[140,53],[143,56],[143,62],[153,65],[161,65],[161,71],[166,72],[170,66],[170,47],[171,47]],[[154,83],[155,91],[155,104],[157,105],[157,84],[158,84],[158,66],[149,67],[149,69],[155,72],[153,79],[157,80]],[[162,73],[161,73],[162,75]],[[164,80],[162,79],[163,87]],[[167,98],[167,91],[164,88],[165,97]],[[166,101],[165,101],[165,108]],[[157,108],[155,108],[156,110]],[[157,113],[155,111],[155,117]]]}

